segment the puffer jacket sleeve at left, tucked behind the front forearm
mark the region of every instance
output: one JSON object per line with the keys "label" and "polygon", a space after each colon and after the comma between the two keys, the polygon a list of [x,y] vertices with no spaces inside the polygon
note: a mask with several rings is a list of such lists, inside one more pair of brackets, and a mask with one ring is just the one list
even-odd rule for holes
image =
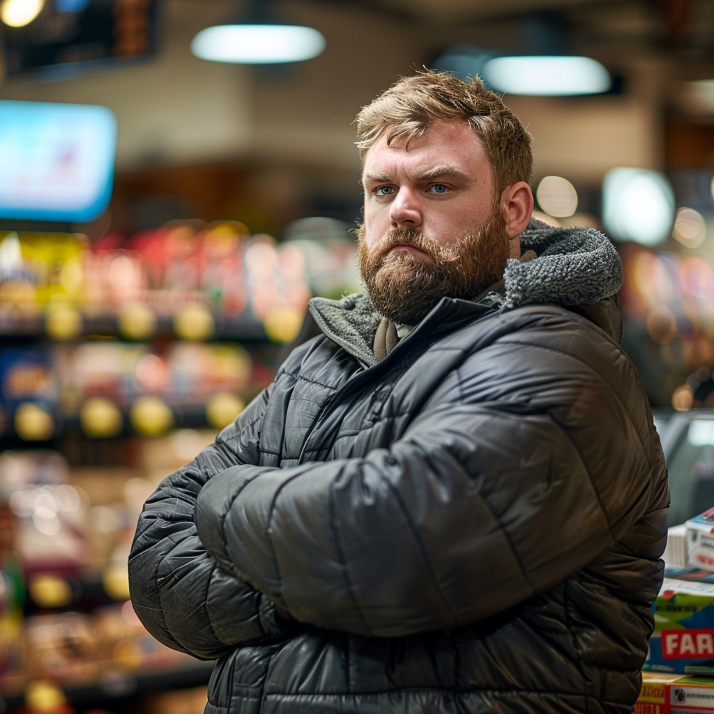
{"label": "puffer jacket sleeve at left, tucked behind the front forearm", "polygon": [[144,506],[129,557],[136,614],[169,647],[213,659],[236,645],[284,635],[273,603],[223,568],[196,533],[196,496],[216,473],[258,461],[264,391],[216,442],[161,482]]}

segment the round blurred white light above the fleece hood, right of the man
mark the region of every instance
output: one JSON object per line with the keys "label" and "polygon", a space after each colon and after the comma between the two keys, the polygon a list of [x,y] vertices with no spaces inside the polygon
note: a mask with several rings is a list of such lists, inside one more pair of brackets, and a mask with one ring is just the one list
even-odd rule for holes
{"label": "round blurred white light above the fleece hood, right of the man", "polygon": [[603,180],[603,223],[618,241],[656,246],[674,223],[674,193],[663,174],[648,169],[610,169]]}

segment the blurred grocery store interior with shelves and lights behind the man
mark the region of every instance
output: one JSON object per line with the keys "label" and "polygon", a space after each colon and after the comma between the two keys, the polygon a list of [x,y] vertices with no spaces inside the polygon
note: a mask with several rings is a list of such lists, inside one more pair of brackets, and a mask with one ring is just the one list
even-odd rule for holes
{"label": "blurred grocery store interior with shelves and lights behind the man", "polygon": [[502,93],[538,218],[617,246],[670,525],[714,505],[710,0],[0,0],[0,712],[203,711],[136,520],[361,289],[353,119],[425,68]]}

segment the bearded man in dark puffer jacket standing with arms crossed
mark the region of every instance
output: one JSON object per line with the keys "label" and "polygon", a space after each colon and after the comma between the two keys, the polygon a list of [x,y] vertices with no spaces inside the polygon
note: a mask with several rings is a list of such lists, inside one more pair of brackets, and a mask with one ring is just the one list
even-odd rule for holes
{"label": "bearded man in dark puffer jacket standing with arms crossed", "polygon": [[478,80],[401,79],[358,134],[367,293],[314,299],[323,334],[147,501],[134,608],[218,658],[208,714],[630,711],[669,496],[617,253],[530,220]]}

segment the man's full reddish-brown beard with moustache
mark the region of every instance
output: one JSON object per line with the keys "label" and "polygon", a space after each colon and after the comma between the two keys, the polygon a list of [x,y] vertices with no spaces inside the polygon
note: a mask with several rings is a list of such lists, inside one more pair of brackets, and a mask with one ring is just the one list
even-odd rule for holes
{"label": "man's full reddish-brown beard with moustache", "polygon": [[[421,322],[445,296],[468,300],[482,293],[503,277],[509,254],[506,221],[499,209],[478,233],[467,233],[448,246],[399,227],[370,249],[365,234],[362,225],[357,232],[362,280],[376,310],[403,325]],[[426,256],[391,250],[398,245],[413,246]]]}

